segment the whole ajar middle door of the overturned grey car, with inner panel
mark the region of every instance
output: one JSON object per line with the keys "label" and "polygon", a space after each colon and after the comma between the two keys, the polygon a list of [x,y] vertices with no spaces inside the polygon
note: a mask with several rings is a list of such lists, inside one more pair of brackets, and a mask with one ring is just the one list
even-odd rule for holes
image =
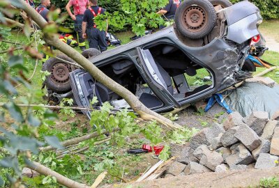
{"label": "whole ajar middle door of the overturned grey car, with inner panel", "polygon": [[[172,79],[168,73],[154,61],[153,56],[149,49],[141,49],[137,47],[137,53],[140,57],[140,65],[144,72],[146,83],[150,86],[153,93],[160,92],[174,107],[180,108],[181,104],[177,102],[173,95],[174,88],[172,87]],[[158,88],[158,91],[154,91],[152,88]]]}

